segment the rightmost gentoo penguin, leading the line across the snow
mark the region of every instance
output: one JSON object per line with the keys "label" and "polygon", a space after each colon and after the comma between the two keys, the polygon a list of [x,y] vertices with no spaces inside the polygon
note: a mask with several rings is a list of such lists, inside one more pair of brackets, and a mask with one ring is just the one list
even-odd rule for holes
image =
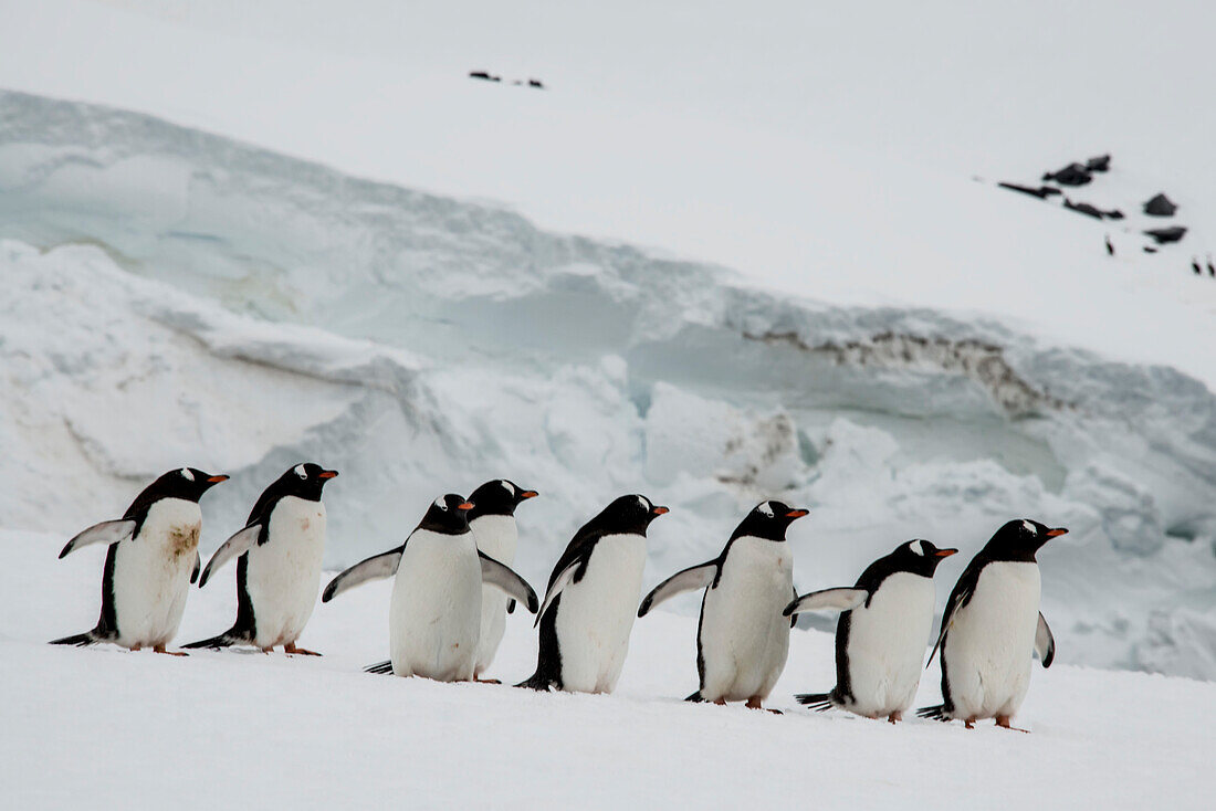
{"label": "rightmost gentoo penguin, leading the line across the snow", "polygon": [[924,719],[961,719],[970,730],[979,719],[1012,728],[1030,687],[1030,659],[1043,668],[1055,658],[1055,641],[1038,612],[1040,579],[1035,553],[1066,529],[1035,520],[1010,520],[980,550],[955,585],[941,619],[941,635],[929,654],[941,651],[942,703],[917,711]]}

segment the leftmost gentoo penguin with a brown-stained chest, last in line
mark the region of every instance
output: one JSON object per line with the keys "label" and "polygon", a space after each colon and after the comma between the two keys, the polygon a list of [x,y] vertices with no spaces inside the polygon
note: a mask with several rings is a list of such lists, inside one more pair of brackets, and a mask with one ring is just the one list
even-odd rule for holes
{"label": "leftmost gentoo penguin with a brown-stained chest, last in line", "polygon": [[94,524],[68,541],[61,558],[81,546],[109,546],[101,575],[101,618],[91,631],[51,644],[113,642],[131,651],[151,647],[168,653],[164,646],[178,632],[186,592],[198,578],[203,524],[198,500],[226,480],[192,467],[169,471],[137,495],[122,518]]}

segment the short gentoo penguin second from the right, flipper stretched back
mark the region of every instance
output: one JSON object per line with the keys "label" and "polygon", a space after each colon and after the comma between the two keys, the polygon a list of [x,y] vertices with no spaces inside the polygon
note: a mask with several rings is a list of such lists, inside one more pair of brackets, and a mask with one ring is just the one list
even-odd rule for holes
{"label": "short gentoo penguin second from the right, flipper stretched back", "polygon": [[[958,550],[939,550],[929,541],[900,544],[857,579],[862,602],[837,623],[837,685],[828,693],[795,695],[817,710],[832,706],[891,723],[902,720],[921,685],[924,648],[933,631],[938,564]],[[831,591],[831,590],[829,590]],[[786,608],[804,610],[827,592],[812,592]]]}

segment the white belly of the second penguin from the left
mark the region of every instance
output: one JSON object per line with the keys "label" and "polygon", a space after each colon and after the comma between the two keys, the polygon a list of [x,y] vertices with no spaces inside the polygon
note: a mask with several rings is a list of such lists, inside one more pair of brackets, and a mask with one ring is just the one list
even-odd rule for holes
{"label": "white belly of the second penguin from the left", "polygon": [[254,644],[292,644],[313,616],[325,554],[325,505],[280,499],[270,513],[269,539],[249,550],[246,590],[253,603]]}

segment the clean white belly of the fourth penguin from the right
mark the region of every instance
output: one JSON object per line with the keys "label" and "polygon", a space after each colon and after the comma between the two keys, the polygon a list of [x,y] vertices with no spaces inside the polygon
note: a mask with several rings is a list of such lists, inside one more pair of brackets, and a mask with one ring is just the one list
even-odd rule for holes
{"label": "clean white belly of the fourth penguin from the right", "polygon": [[596,542],[582,580],[562,591],[554,625],[564,689],[610,693],[617,687],[644,567],[646,536],[606,535]]}

